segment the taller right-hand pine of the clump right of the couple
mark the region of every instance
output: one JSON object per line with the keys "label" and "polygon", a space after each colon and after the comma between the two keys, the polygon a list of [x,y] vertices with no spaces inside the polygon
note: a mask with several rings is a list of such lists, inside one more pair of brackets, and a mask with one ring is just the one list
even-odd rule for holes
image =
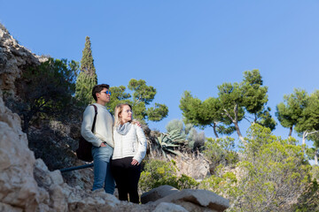
{"label": "taller right-hand pine of the clump right of the couple", "polygon": [[[222,86],[218,87],[222,112],[229,117],[242,141],[245,140],[238,123],[243,118],[251,124],[257,123],[271,130],[275,129],[276,122],[270,116],[270,108],[266,108],[268,87],[262,85],[261,73],[258,70],[253,70],[244,72],[244,79],[241,83],[223,83]],[[253,117],[249,117],[245,111]]]}

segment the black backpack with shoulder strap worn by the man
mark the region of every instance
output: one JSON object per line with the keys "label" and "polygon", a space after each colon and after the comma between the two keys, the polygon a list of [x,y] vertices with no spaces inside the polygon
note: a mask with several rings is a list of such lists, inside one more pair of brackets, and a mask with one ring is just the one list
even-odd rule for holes
{"label": "black backpack with shoulder strap worn by the man", "polygon": [[[94,104],[91,104],[90,106],[94,107],[95,110],[95,116],[93,120],[93,125],[92,125],[92,133],[94,131],[95,123],[97,121],[97,106]],[[88,140],[85,140],[82,135],[79,140],[79,148],[76,149],[76,156],[82,161],[85,162],[91,162],[93,161],[93,156],[92,156],[92,143],[89,142]]]}

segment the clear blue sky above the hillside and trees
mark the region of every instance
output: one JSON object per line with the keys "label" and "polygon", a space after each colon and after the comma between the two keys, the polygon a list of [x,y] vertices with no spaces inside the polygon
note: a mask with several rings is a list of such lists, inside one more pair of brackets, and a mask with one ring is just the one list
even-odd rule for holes
{"label": "clear blue sky above the hillside and trees", "polygon": [[[89,36],[99,83],[134,78],[155,87],[154,102],[169,115],[152,129],[182,118],[183,91],[205,100],[247,70],[260,70],[273,116],[294,87],[319,87],[315,0],[0,0],[0,7],[0,22],[35,54],[80,61]],[[245,120],[240,127],[245,134]],[[205,133],[214,137],[211,128]],[[286,138],[288,129],[278,123],[274,133]]]}

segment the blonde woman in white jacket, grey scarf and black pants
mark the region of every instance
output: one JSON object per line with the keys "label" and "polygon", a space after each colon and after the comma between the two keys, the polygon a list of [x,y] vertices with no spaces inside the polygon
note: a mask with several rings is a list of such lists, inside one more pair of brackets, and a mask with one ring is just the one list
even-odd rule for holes
{"label": "blonde woman in white jacket, grey scarf and black pants", "polygon": [[114,117],[114,151],[111,171],[119,191],[120,201],[128,201],[129,194],[129,201],[138,203],[137,184],[147,142],[142,128],[132,122],[132,107],[128,103],[117,105]]}

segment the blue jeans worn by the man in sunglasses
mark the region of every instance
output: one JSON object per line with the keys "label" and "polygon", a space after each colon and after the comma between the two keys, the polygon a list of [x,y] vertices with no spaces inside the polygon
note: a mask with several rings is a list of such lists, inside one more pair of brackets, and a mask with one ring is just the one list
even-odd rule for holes
{"label": "blue jeans worn by the man in sunglasses", "polygon": [[105,148],[92,148],[94,163],[93,191],[104,187],[105,193],[114,193],[115,183],[110,167],[112,154],[113,148],[108,145]]}

